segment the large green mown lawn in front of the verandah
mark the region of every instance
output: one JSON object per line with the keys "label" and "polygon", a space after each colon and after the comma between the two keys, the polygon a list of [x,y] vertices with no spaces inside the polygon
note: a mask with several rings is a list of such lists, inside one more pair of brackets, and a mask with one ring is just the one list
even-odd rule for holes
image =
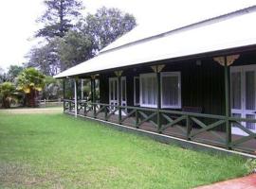
{"label": "large green mown lawn in front of the verandah", "polygon": [[192,188],[243,176],[245,162],[61,113],[0,112],[0,188]]}

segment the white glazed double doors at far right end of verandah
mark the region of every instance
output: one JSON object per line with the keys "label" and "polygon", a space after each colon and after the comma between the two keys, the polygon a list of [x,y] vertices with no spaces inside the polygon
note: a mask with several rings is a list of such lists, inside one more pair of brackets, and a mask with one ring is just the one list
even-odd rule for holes
{"label": "white glazed double doors at far right end of verandah", "polygon": [[[235,117],[255,119],[256,115],[256,66],[234,66],[230,70],[231,112]],[[255,123],[242,124],[256,132]],[[232,127],[233,134],[247,135],[241,129]]]}

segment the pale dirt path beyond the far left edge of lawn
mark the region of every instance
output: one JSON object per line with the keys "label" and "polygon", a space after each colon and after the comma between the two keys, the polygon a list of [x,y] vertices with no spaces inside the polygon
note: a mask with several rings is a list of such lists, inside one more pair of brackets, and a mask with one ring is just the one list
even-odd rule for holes
{"label": "pale dirt path beyond the far left edge of lawn", "polygon": [[0,113],[14,113],[14,114],[31,114],[31,113],[60,113],[63,112],[62,107],[58,108],[34,108],[34,109],[8,109],[8,110],[0,110]]}

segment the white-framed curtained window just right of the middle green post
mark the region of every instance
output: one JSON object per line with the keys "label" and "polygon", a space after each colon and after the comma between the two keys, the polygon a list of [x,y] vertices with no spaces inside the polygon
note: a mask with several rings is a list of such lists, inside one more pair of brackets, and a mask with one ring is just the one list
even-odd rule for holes
{"label": "white-framed curtained window just right of the middle green post", "polygon": [[161,73],[161,108],[181,108],[180,72]]}

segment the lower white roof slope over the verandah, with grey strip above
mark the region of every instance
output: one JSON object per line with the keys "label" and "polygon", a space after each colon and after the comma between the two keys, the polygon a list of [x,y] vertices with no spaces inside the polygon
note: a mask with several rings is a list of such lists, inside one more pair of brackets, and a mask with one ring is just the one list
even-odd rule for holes
{"label": "lower white roof slope over the verandah, with grey strip above", "polygon": [[256,6],[101,52],[55,77],[71,77],[256,44],[255,20]]}

